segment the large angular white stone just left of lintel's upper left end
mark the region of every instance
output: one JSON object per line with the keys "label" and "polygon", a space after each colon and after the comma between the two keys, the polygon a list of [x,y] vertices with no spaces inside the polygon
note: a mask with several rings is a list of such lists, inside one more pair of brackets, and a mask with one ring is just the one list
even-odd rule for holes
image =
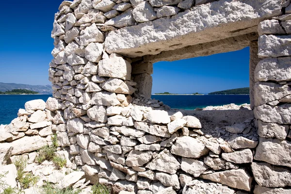
{"label": "large angular white stone just left of lintel's upper left end", "polygon": [[87,46],[92,42],[103,43],[103,41],[104,34],[98,30],[95,23],[80,32],[79,43],[81,46]]}

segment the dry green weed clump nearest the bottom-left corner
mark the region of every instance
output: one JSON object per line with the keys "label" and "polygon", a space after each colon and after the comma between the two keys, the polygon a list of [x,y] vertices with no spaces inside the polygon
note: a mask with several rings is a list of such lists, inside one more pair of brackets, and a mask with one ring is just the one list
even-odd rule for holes
{"label": "dry green weed clump nearest the bottom-left corner", "polygon": [[25,173],[24,168],[26,167],[27,160],[24,157],[19,157],[14,161],[17,169],[17,180],[20,183],[22,189],[32,187],[38,181],[38,177],[32,175],[32,173]]}

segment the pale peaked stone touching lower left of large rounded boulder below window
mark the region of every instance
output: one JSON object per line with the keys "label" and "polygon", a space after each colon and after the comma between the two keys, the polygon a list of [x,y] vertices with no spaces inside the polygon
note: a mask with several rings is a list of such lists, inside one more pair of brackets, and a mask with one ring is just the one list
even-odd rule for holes
{"label": "pale peaked stone touching lower left of large rounded boulder below window", "polygon": [[146,168],[151,170],[159,170],[169,174],[175,174],[180,168],[180,163],[169,150],[164,149],[156,158],[146,165]]}

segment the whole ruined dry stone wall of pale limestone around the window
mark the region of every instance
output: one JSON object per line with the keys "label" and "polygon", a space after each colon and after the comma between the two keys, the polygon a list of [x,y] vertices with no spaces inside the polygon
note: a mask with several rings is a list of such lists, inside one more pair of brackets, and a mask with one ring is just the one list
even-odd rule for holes
{"label": "whole ruined dry stone wall of pale limestone around the window", "polygon": [[[114,192],[291,193],[289,4],[63,1],[51,34],[53,98],[28,102],[1,129],[0,162],[56,133],[66,167]],[[245,46],[251,108],[189,112],[149,99],[153,62]]]}

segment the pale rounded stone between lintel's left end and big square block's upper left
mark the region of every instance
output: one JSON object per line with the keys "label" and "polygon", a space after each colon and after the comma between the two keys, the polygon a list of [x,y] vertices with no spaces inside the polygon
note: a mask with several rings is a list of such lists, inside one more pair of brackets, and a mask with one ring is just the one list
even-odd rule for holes
{"label": "pale rounded stone between lintel's left end and big square block's upper left", "polygon": [[102,59],[103,45],[100,43],[90,43],[85,48],[85,58],[91,62],[98,63]]}

